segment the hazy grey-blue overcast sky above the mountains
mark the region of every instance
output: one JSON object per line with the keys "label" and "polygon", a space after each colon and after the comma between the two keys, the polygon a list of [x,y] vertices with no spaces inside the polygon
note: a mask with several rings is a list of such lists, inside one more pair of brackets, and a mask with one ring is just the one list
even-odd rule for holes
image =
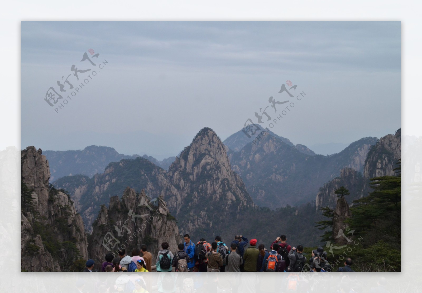
{"label": "hazy grey-blue overcast sky above the mountains", "polygon": [[[91,70],[77,81],[72,65]],[[278,93],[287,80],[300,101]],[[50,87],[63,97],[54,107]],[[270,96],[295,107],[275,114]],[[22,148],[96,144],[162,159],[203,127],[224,140],[258,123],[260,108],[271,120],[288,111],[271,131],[293,144],[394,133],[400,22],[22,22]]]}

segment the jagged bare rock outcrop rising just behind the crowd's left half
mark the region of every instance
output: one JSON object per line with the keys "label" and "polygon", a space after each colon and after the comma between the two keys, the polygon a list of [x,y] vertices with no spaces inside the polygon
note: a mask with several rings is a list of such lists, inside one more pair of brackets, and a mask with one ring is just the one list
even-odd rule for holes
{"label": "jagged bare rock outcrop rising just behind the crowd's left half", "polygon": [[177,245],[182,242],[179,228],[162,197],[157,203],[153,205],[144,190],[137,194],[135,189],[127,187],[121,199],[111,197],[108,208],[101,206],[88,248],[97,269],[106,253],[117,256],[120,248],[130,254],[133,248],[146,244],[154,260],[162,242],[168,242],[171,251],[177,250]]}

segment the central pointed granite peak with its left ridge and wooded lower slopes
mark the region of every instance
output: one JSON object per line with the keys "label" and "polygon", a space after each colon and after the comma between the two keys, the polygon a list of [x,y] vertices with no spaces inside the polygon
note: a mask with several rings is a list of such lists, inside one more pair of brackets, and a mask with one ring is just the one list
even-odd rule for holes
{"label": "central pointed granite peak with its left ridge and wooded lower slopes", "polygon": [[[104,173],[96,174],[93,178],[84,175],[67,176],[55,181],[54,185],[72,194],[87,230],[92,231],[92,241],[98,243],[102,241],[100,235],[109,227],[103,224],[107,222],[106,211],[109,215],[113,211],[121,216],[122,211],[119,209],[128,212],[123,206],[117,209],[110,207],[112,203],[117,204],[116,199],[122,192],[126,193],[127,186],[137,191],[131,192],[135,192],[136,198],[146,197],[150,200],[162,194],[166,207],[177,219],[181,234],[190,234],[195,241],[202,237],[211,241],[216,234],[228,241],[241,233],[268,243],[273,241],[273,231],[262,227],[269,228],[274,218],[284,218],[286,222],[281,223],[279,229],[289,233],[289,239],[300,241],[303,245],[319,243],[319,230],[313,226],[308,227],[306,234],[296,233],[297,229],[303,231],[308,223],[321,219],[314,204],[275,211],[257,207],[241,177],[231,169],[226,148],[214,131],[203,128],[168,171],[138,157],[112,162]],[[142,189],[145,192],[139,193]],[[107,209],[103,204],[107,205],[108,202]],[[157,201],[151,202],[155,204]],[[119,218],[113,221],[117,220]],[[93,251],[92,248],[89,251],[96,256],[104,252]]]}

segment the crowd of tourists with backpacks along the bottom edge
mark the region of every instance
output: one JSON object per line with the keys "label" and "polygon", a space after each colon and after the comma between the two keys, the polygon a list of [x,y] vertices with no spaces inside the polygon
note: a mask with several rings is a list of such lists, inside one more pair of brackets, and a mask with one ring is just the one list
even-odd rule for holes
{"label": "crowd of tourists with backpacks along the bottom edge", "polygon": [[[249,247],[247,247],[249,245]],[[303,246],[292,247],[287,244],[286,235],[277,237],[269,249],[257,240],[248,240],[236,235],[230,245],[220,236],[209,243],[204,238],[192,242],[189,234],[184,235],[174,254],[168,242],[161,243],[161,250],[155,259],[157,272],[329,272],[333,268],[327,261],[327,252],[322,247],[313,250],[309,259],[303,254]],[[247,248],[246,248],[247,247]],[[118,250],[118,257],[112,253],[105,255],[101,265],[102,272],[151,272],[152,255],[146,245],[132,250],[132,256],[124,249]],[[85,272],[92,272],[95,262],[89,259]],[[340,272],[354,272],[352,259],[346,258]]]}

